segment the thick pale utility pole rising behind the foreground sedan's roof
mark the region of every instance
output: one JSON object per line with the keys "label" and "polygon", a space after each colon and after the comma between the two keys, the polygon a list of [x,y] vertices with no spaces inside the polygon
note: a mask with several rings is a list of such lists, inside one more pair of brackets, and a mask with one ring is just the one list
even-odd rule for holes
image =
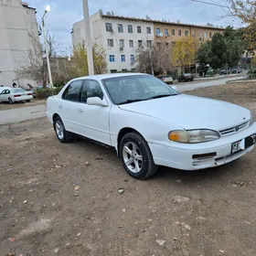
{"label": "thick pale utility pole rising behind the foreground sedan's roof", "polygon": [[89,71],[89,75],[91,76],[91,75],[94,75],[94,65],[93,65],[93,55],[92,55],[91,26],[90,26],[88,0],[82,0],[82,5],[83,5],[83,18],[84,18],[85,38],[86,38],[86,47],[87,47],[88,71]]}

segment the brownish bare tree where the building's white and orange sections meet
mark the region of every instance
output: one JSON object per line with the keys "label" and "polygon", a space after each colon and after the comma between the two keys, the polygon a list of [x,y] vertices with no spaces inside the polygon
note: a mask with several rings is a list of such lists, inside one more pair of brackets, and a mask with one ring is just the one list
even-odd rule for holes
{"label": "brownish bare tree where the building's white and orange sections meet", "polygon": [[152,47],[143,46],[138,49],[137,70],[140,72],[163,73],[171,69],[170,49],[164,43],[156,43]]}

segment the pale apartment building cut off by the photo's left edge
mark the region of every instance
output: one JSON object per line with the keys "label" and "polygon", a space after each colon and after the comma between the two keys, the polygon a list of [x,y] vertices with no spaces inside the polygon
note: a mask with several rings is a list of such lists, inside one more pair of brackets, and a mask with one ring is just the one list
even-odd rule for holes
{"label": "pale apartment building cut off by the photo's left edge", "polygon": [[36,85],[18,77],[16,69],[25,65],[26,52],[38,42],[36,9],[20,0],[0,1],[0,84]]}

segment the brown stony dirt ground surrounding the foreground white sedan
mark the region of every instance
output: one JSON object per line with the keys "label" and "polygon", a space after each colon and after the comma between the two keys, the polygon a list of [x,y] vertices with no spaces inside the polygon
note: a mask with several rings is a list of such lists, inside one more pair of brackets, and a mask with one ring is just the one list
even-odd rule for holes
{"label": "brown stony dirt ground surrounding the foreground white sedan", "polygon": [[[189,94],[256,116],[255,87]],[[111,149],[60,144],[46,118],[0,126],[0,144],[1,256],[256,255],[255,150],[204,171],[161,167],[139,181]]]}

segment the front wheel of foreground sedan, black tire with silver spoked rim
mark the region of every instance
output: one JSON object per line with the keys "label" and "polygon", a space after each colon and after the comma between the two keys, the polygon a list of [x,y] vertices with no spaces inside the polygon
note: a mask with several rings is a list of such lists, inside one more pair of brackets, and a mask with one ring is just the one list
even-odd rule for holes
{"label": "front wheel of foreground sedan, black tire with silver spoked rim", "polygon": [[119,153],[123,167],[130,176],[146,179],[155,175],[158,166],[155,165],[149,146],[140,134],[125,134],[119,145]]}

